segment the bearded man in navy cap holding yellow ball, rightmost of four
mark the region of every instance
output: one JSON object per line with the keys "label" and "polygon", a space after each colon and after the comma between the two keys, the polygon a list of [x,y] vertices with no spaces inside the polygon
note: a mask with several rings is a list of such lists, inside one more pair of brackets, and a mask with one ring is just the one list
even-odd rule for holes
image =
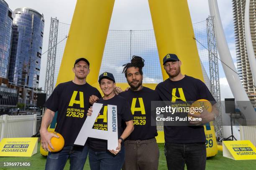
{"label": "bearded man in navy cap holding yellow ball, rightmost of four", "polygon": [[[169,170],[205,170],[206,146],[202,124],[210,122],[218,115],[216,103],[205,83],[201,80],[182,75],[182,62],[175,54],[167,54],[163,59],[164,70],[169,78],[156,86],[161,100],[186,102],[206,99],[211,102],[212,112],[204,110],[200,122],[189,122],[197,126],[164,126],[166,162]],[[191,103],[190,103],[191,104]]]}

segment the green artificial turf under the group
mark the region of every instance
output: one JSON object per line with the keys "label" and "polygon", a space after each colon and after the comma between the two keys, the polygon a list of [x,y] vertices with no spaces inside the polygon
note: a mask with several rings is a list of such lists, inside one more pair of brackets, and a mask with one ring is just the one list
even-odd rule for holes
{"label": "green artificial turf under the group", "polygon": [[[1,157],[0,158],[0,170],[44,170],[46,157],[40,154],[40,144],[38,143],[38,150],[32,157]],[[167,170],[166,160],[164,157],[164,144],[159,144],[160,158],[159,158],[159,170]],[[30,163],[29,167],[4,167],[4,162],[21,162]],[[186,169],[186,168],[185,168]],[[69,160],[64,168],[69,170]],[[87,159],[84,166],[84,170],[90,170],[89,161]],[[206,170],[256,170],[256,160],[232,160],[224,158],[222,152],[219,151],[215,157],[207,158]]]}

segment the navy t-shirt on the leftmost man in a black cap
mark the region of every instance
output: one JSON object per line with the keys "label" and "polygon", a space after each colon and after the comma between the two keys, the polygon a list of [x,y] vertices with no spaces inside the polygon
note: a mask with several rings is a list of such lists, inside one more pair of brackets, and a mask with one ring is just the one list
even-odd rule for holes
{"label": "navy t-shirt on the leftmost man in a black cap", "polygon": [[46,101],[46,108],[58,111],[55,131],[63,136],[65,146],[74,145],[91,106],[91,95],[101,97],[99,90],[88,83],[77,85],[69,81],[57,85]]}

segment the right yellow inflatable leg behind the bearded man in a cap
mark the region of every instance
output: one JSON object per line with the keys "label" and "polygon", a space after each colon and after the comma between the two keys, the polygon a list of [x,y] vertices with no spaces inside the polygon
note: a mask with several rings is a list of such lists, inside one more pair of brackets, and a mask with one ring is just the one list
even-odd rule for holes
{"label": "right yellow inflatable leg behind the bearded man in a cap", "polygon": [[[197,45],[193,39],[195,35],[187,0],[148,0],[148,2],[163,79],[169,78],[162,66],[163,58],[168,53],[174,53],[182,61],[183,74],[204,81]],[[218,149],[213,125],[207,126],[207,129],[205,127],[205,135],[206,138],[208,137],[207,157],[209,157],[216,155]]]}

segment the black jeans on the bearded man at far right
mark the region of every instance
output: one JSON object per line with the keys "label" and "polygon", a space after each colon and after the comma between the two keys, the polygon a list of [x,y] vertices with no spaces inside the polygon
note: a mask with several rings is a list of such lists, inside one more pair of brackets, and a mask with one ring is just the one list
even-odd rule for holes
{"label": "black jeans on the bearded man at far right", "polygon": [[205,143],[165,143],[168,170],[205,170]]}

